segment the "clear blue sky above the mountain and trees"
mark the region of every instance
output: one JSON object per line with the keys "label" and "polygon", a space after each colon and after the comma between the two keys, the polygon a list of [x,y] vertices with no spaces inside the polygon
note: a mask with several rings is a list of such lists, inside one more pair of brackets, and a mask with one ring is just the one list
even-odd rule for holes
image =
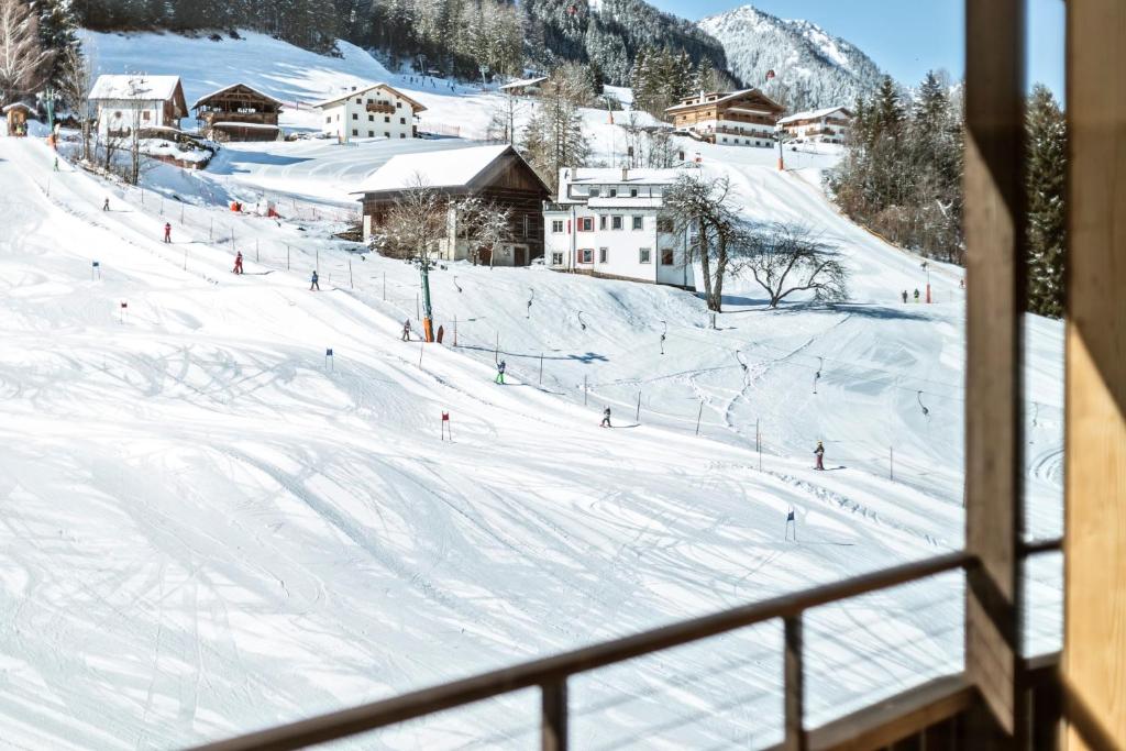
{"label": "clear blue sky above the mountain and trees", "polygon": [[[740,0],[650,0],[661,10],[699,19]],[[750,0],[781,18],[804,18],[857,45],[881,69],[905,84],[930,69],[964,72],[965,0]],[[1028,0],[1029,81],[1047,83],[1063,96],[1063,0]]]}

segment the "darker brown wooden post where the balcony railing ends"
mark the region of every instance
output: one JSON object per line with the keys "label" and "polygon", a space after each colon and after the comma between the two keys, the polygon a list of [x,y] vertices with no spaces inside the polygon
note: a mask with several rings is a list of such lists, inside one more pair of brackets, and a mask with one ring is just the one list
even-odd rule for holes
{"label": "darker brown wooden post where the balcony railing ends", "polygon": [[966,549],[981,560],[966,578],[965,660],[984,700],[971,732],[982,749],[1024,749],[1025,0],[965,7]]}

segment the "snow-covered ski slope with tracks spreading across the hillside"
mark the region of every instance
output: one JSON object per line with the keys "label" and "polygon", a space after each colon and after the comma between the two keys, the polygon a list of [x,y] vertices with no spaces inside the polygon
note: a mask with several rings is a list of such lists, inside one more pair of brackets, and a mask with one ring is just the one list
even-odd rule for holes
{"label": "snow-covered ski slope with tracks spreading across the hillside", "polygon": [[[105,70],[131,64],[129,38],[97,37]],[[360,51],[266,37],[160,44],[150,72],[184,75],[189,100],[232,82],[224,68],[292,99],[345,71],[387,75]],[[448,99],[450,122],[488,119],[491,95],[418,96]],[[679,290],[452,265],[431,276],[446,346],[422,347],[399,341],[417,271],[361,257],[325,220],[400,147],[225,149],[202,173],[155,167],[142,193],[52,173],[42,143],[0,140],[6,744],[199,742],[962,544],[960,270],[932,269],[936,304],[899,302],[926,272],[825,202],[815,172],[832,154],[778,173],[769,151],[706,146],[700,169],[730,175],[749,215],[840,244],[848,305],[767,311],[734,280],[712,329]],[[223,208],[256,196],[284,218]],[[1049,536],[1062,328],[1028,327],[1028,526]],[[604,405],[613,430],[598,428]],[[810,468],[819,439],[830,472]],[[1039,652],[1058,635],[1057,561],[1034,572]],[[947,575],[811,614],[811,723],[958,669],[960,602]],[[775,625],[598,671],[571,687],[572,740],[775,742],[780,676]],[[351,745],[526,748],[536,701]]]}

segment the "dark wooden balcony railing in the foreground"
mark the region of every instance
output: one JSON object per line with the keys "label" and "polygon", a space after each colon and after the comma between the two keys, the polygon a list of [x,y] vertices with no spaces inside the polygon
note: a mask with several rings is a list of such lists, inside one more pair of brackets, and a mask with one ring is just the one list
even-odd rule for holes
{"label": "dark wooden balcony railing in the foreground", "polygon": [[[1058,547],[1060,540],[1035,543],[1022,548],[1021,554],[1031,555],[1055,551]],[[811,748],[811,734],[807,733],[804,722],[803,614],[810,608],[905,584],[948,571],[964,570],[969,573],[978,566],[978,560],[969,553],[964,551],[948,553],[441,686],[420,689],[390,699],[303,719],[289,725],[220,741],[199,746],[199,750],[274,751],[298,749],[538,686],[540,689],[540,749],[543,751],[565,751],[568,748],[569,715],[568,679],[571,676],[780,618],[784,626],[785,650],[785,741],[779,748],[781,751],[803,751]],[[851,725],[847,721],[838,721],[833,724],[834,726],[819,731],[812,737],[824,736],[831,740],[832,737],[846,737],[849,732],[855,734],[863,731],[863,733],[873,734],[872,737],[882,739],[886,745],[921,732],[930,725],[945,722],[965,710],[973,701],[973,691],[972,686],[960,674],[931,681],[897,697],[896,700],[900,703],[897,706],[902,712],[887,714],[885,708],[884,715],[868,713],[861,718],[863,722],[852,721]],[[896,700],[890,700],[892,706],[896,706]],[[879,706],[886,705],[888,705],[887,701]],[[883,718],[881,719],[881,717]],[[841,723],[846,723],[843,728]],[[825,743],[817,742],[816,748],[837,748],[828,741]],[[876,746],[849,745],[848,748]]]}

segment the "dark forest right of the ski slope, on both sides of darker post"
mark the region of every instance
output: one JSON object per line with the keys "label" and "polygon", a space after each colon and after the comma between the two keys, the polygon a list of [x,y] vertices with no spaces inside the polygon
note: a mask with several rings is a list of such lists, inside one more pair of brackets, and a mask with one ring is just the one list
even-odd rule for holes
{"label": "dark forest right of the ski slope, on both sides of darker post", "polygon": [[[909,98],[891,78],[855,107],[828,185],[854,221],[926,258],[965,265],[963,87],[928,73]],[[1058,318],[1064,290],[1064,111],[1044,86],[1026,102],[1028,310]]]}

